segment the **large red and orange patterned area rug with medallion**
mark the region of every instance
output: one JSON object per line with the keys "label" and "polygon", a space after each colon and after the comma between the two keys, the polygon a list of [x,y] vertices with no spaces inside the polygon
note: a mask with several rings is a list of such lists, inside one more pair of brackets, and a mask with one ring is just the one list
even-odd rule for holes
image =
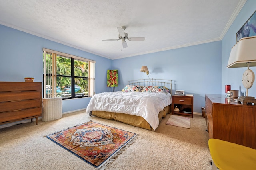
{"label": "large red and orange patterned area rug with medallion", "polygon": [[104,169],[136,134],[89,121],[46,137],[95,168]]}

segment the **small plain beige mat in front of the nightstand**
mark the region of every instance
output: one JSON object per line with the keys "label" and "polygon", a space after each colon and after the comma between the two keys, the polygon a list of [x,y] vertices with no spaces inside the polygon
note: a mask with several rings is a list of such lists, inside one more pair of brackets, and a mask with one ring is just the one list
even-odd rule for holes
{"label": "small plain beige mat in front of the nightstand", "polygon": [[190,129],[190,118],[184,116],[170,115],[166,125],[173,125]]}

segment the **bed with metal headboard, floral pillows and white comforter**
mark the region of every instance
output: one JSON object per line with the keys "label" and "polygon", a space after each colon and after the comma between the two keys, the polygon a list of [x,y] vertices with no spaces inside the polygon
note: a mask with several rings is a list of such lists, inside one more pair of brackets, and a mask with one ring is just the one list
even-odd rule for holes
{"label": "bed with metal headboard, floral pillows and white comforter", "polygon": [[122,91],[92,96],[86,112],[155,131],[162,118],[171,112],[171,94],[172,80],[131,80]]}

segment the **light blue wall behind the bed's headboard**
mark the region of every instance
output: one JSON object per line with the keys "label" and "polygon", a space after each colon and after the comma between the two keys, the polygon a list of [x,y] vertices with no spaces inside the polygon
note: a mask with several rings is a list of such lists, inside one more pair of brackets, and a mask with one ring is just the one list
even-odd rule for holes
{"label": "light blue wall behind the bed's headboard", "polygon": [[150,78],[174,80],[173,91],[194,94],[195,112],[201,113],[205,94],[221,93],[221,41],[116,59],[112,64],[118,69],[118,90],[128,80],[148,78],[140,72],[145,65]]}

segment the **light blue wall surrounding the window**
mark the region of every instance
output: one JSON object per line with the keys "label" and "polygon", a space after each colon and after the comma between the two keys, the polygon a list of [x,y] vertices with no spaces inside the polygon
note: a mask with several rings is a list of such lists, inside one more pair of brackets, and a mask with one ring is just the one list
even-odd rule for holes
{"label": "light blue wall surrounding the window", "polygon": [[[0,25],[0,40],[0,81],[23,82],[24,77],[34,77],[35,82],[43,82],[42,49],[48,48],[96,61],[96,93],[108,90],[106,72],[112,67],[110,59],[3,25]],[[89,102],[90,98],[63,100],[63,112],[84,109]]]}

